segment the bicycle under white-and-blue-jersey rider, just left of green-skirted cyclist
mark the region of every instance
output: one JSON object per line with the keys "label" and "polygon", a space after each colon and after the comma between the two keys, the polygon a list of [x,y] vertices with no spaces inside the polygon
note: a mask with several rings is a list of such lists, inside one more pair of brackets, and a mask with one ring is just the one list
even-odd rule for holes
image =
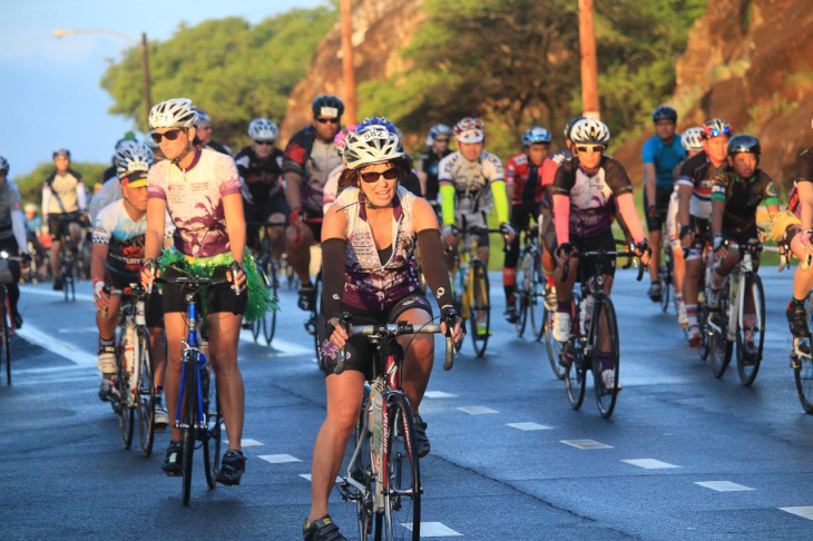
{"label": "bicycle under white-and-blue-jersey rider, just left of green-skirted cyclist", "polygon": [[[124,289],[104,288],[108,295],[120,295],[117,372],[112,376],[112,410],[118,414],[121,444],[133,444],[133,421],[138,420],[141,454],[149,456],[155,437],[155,380],[153,350],[146,321],[147,292],[139,284]],[[105,311],[106,312],[106,311]],[[106,316],[107,314],[105,314]]]}

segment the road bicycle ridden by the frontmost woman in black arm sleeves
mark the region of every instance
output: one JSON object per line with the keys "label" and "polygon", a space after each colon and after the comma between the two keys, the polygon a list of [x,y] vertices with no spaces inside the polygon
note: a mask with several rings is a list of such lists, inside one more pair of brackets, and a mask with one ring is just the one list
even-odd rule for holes
{"label": "road bicycle ridden by the frontmost woman in black arm sleeves", "polygon": [[[343,325],[350,316],[343,314]],[[364,385],[355,449],[347,473],[336,486],[343,501],[355,501],[359,539],[412,539],[421,537],[420,462],[415,450],[412,410],[401,388],[403,348],[395,338],[405,334],[440,333],[440,324],[406,322],[353,326],[374,346],[373,377]],[[443,370],[451,370],[454,346],[447,332]],[[344,371],[342,352],[334,373]],[[404,531],[409,530],[409,533]]]}

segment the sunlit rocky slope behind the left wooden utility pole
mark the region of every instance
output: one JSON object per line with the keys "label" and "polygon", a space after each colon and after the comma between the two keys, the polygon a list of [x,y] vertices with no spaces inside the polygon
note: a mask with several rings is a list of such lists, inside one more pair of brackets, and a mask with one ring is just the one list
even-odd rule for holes
{"label": "sunlit rocky slope behind the left wooden utility pole", "polygon": [[[425,20],[423,0],[353,2],[353,63],[356,85],[406,69],[399,49]],[[311,67],[288,99],[280,137],[287,140],[312,120],[311,101],[321,94],[344,97],[340,23],[322,39]]]}

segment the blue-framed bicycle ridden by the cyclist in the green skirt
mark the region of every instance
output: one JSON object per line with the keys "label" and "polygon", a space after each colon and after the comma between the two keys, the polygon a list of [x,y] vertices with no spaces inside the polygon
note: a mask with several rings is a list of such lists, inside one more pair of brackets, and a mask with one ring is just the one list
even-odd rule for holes
{"label": "blue-framed bicycle ridden by the cyclist in the green skirt", "polygon": [[[175,427],[182,435],[182,476],[184,505],[189,505],[192,490],[192,461],[196,449],[203,450],[206,484],[215,488],[221,469],[221,423],[223,414],[217,396],[215,371],[200,351],[198,329],[203,313],[198,311],[198,298],[203,287],[229,282],[225,277],[202,278],[198,276],[157,277],[158,284],[180,285],[186,289],[188,334],[182,340],[180,356],[184,368],[180,373],[178,404],[175,410]],[[239,292],[236,292],[239,295]],[[214,450],[212,446],[214,446]],[[214,451],[214,458],[212,456]]]}

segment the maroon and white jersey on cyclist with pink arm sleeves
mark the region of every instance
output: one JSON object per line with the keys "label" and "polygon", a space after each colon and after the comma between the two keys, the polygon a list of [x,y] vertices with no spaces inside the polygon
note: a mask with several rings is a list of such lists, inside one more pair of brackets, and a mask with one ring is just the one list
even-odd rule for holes
{"label": "maroon and white jersey on cyclist with pink arm sleeves", "polygon": [[588,175],[578,157],[562,163],[554,179],[554,194],[570,199],[569,234],[591,237],[610,230],[615,219],[615,199],[631,194],[624,166],[609,156],[603,156],[598,171]]}

